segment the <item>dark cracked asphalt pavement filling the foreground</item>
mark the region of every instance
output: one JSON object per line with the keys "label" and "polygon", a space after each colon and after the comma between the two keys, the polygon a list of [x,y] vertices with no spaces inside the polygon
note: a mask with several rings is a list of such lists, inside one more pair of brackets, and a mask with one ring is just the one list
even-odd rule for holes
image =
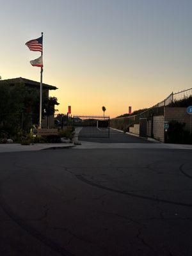
{"label": "dark cracked asphalt pavement filling the foreground", "polygon": [[192,255],[191,150],[0,154],[0,255]]}

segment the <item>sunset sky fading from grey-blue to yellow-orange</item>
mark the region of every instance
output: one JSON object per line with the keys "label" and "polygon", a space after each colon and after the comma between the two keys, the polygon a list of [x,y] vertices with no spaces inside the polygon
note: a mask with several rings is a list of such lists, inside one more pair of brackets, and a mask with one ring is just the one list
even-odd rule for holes
{"label": "sunset sky fading from grey-blue to yellow-orange", "polygon": [[44,31],[60,113],[111,117],[192,87],[191,0],[1,0],[3,79],[40,80],[25,43]]}

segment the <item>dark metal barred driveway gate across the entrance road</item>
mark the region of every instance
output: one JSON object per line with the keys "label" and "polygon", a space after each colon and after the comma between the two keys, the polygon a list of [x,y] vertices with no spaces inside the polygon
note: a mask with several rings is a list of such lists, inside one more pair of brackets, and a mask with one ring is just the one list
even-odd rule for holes
{"label": "dark metal barred driveway gate across the entrance road", "polygon": [[109,138],[109,120],[109,116],[67,115],[63,126],[74,127],[75,137]]}

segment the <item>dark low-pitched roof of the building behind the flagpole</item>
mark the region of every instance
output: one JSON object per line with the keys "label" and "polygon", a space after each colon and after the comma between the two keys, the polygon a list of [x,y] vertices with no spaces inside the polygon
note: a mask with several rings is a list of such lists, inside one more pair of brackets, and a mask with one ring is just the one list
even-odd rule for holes
{"label": "dark low-pitched roof of the building behind the flagpole", "polygon": [[[31,86],[31,87],[40,87],[40,82],[36,82],[30,79],[26,79],[23,77],[17,77],[17,78],[11,78],[11,79],[4,79],[0,80],[0,84],[8,83],[10,85],[18,84],[18,83],[24,83],[26,86]],[[56,90],[58,89],[56,86],[52,86],[49,84],[42,84],[43,89],[48,89],[48,90]]]}

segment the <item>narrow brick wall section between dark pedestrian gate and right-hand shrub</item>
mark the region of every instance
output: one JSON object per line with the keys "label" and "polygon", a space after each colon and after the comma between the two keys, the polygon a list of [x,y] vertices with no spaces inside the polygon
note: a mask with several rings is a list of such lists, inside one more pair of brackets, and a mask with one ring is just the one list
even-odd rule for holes
{"label": "narrow brick wall section between dark pedestrian gate and right-hand shrub", "polygon": [[164,142],[164,116],[154,116],[153,134],[154,139]]}

